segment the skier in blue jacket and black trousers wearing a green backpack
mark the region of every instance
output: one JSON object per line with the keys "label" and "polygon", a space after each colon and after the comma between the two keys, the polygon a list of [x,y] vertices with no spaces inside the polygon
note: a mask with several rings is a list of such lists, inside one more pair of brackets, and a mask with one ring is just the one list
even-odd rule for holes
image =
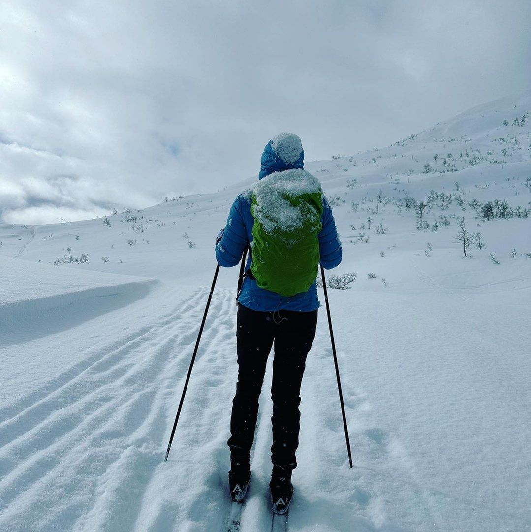
{"label": "skier in blue jacket and black trousers wearing a green backpack", "polygon": [[232,204],[216,237],[216,259],[226,268],[249,247],[238,295],[238,382],[232,402],[229,488],[242,502],[251,477],[250,451],[266,361],[274,343],[273,511],[285,513],[297,467],[300,386],[317,326],[318,264],[335,268],[342,257],[332,209],[321,184],[303,170],[297,135],[282,133],[265,146],[259,181]]}

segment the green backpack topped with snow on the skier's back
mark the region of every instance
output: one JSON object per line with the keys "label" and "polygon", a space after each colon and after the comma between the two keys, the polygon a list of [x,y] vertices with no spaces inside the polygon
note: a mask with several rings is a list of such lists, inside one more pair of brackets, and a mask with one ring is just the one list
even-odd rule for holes
{"label": "green backpack topped with snow on the skier's back", "polygon": [[323,190],[306,170],[275,172],[252,189],[251,272],[282,296],[307,292],[317,278]]}

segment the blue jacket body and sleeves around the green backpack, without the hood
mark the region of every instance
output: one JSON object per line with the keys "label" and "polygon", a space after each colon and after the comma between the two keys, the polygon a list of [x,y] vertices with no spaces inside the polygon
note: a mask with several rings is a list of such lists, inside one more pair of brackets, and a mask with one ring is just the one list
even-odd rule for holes
{"label": "blue jacket body and sleeves around the green backpack, without the hood", "polygon": [[[324,195],[321,222],[322,229],[318,235],[321,265],[330,270],[341,262],[342,249],[332,215],[332,207]],[[232,204],[223,237],[216,245],[216,259],[220,265],[225,268],[232,268],[241,261],[243,251],[252,242],[251,231],[254,223],[249,191],[247,194],[240,194]],[[245,271],[250,269],[251,261],[252,257],[248,256]],[[307,292],[286,297],[271,292],[271,290],[260,288],[256,280],[250,277],[245,277],[243,280],[238,302],[249,309],[265,312],[284,309],[309,312],[318,309],[320,305],[315,282]]]}

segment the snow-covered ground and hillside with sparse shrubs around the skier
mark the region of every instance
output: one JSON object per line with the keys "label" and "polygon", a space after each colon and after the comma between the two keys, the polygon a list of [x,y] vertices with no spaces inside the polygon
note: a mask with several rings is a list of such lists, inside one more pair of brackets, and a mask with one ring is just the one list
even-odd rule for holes
{"label": "snow-covered ground and hillside with sparse shrubs around the skier", "polygon": [[[529,113],[531,92],[305,165],[343,242],[328,278],[356,274],[329,290],[354,468],[323,307],[290,531],[531,529]],[[256,179],[95,220],[0,225],[0,530],[226,529],[238,268],[220,272],[163,459],[215,235]],[[242,532],[271,529],[270,386],[271,367]]]}

